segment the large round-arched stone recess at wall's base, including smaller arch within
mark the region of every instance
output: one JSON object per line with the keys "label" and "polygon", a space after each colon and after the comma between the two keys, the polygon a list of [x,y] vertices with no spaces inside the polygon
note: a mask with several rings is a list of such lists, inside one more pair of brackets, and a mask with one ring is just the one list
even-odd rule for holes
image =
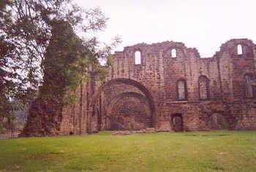
{"label": "large round-arched stone recess at wall's base, including smaller arch within", "polygon": [[153,97],[145,86],[132,79],[112,79],[100,85],[89,106],[89,132],[154,127]]}

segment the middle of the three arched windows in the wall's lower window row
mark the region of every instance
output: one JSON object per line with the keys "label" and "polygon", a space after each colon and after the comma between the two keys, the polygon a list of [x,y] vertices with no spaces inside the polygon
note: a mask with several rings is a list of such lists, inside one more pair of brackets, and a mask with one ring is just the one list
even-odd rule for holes
{"label": "middle of the three arched windows in the wall's lower window row", "polygon": [[199,87],[199,98],[201,100],[208,99],[209,98],[209,85],[208,85],[208,78],[206,76],[199,77],[198,87]]}

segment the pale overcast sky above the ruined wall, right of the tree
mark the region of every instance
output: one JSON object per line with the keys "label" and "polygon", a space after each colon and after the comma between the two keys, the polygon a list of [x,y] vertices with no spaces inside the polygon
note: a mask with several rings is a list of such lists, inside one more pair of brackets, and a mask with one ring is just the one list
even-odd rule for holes
{"label": "pale overcast sky above the ruined wall, right of the tree", "polygon": [[75,0],[85,8],[100,7],[108,26],[103,42],[116,35],[116,50],[145,42],[184,42],[201,57],[211,57],[222,43],[248,38],[256,43],[256,0]]}

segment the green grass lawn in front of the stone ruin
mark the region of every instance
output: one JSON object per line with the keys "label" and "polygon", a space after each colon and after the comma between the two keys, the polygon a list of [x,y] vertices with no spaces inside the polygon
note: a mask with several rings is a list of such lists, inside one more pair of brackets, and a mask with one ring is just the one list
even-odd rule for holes
{"label": "green grass lawn in front of the stone ruin", "polygon": [[0,140],[0,171],[256,171],[256,131]]}

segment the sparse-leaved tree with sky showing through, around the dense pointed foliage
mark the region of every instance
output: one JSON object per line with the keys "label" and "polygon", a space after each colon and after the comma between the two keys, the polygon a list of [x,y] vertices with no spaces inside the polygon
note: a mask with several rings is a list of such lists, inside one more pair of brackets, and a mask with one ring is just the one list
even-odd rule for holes
{"label": "sparse-leaved tree with sky showing through, around the dense pointed foliage", "polygon": [[[78,33],[89,35],[102,31],[106,18],[100,9],[81,9],[71,0],[10,0],[0,19],[1,58],[0,69],[12,71],[4,80],[15,80],[15,93],[20,98],[42,85],[46,48],[52,36],[53,22],[63,20]],[[97,50],[95,37],[80,37],[84,47],[94,53],[94,58],[105,58],[110,50]],[[108,46],[107,46],[108,47]],[[88,60],[88,63],[94,60]],[[94,63],[95,64],[95,63]],[[12,88],[14,85],[12,85]],[[17,94],[18,93],[18,94]]]}

